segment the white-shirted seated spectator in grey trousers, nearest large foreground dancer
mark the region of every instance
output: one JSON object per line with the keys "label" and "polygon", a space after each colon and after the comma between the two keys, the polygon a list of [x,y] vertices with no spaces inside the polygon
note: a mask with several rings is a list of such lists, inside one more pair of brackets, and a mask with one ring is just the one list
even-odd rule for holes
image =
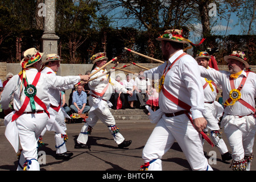
{"label": "white-shirted seated spectator in grey trousers, nearest large foreground dancer", "polygon": [[140,109],[146,109],[146,102],[148,100],[147,90],[150,89],[150,81],[144,77],[143,71],[139,72],[139,76],[135,78],[136,84],[136,94],[139,100],[139,104],[141,104]]}

